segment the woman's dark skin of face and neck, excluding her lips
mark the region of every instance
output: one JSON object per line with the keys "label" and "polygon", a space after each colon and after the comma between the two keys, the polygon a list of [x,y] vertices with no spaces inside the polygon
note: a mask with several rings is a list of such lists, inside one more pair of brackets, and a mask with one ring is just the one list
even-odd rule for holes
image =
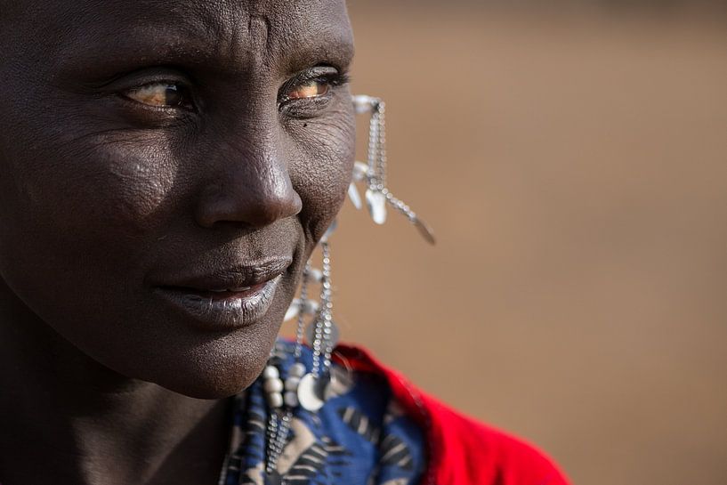
{"label": "woman's dark skin of face and neck, excluding her lips", "polygon": [[[4,485],[216,483],[351,180],[352,53],[343,0],[0,0]],[[236,327],[158,296],[268,261]]]}

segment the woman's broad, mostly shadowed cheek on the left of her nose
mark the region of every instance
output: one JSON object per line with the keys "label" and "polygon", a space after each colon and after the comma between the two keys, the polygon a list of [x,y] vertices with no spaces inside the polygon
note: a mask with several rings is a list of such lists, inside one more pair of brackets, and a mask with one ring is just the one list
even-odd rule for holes
{"label": "woman's broad, mostly shadowed cheek on the left of her nose", "polygon": [[0,274],[37,309],[93,299],[99,288],[125,291],[141,279],[139,263],[166,217],[174,171],[159,151],[133,151],[130,142],[47,145],[14,160],[10,190],[0,196]]}

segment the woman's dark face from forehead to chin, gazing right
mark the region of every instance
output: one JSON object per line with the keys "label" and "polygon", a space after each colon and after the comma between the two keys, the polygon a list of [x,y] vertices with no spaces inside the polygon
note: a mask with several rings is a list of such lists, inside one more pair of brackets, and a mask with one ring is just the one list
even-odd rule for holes
{"label": "woman's dark face from forehead to chin, gazing right", "polygon": [[0,0],[0,22],[2,291],[124,376],[238,392],[350,180],[344,1]]}

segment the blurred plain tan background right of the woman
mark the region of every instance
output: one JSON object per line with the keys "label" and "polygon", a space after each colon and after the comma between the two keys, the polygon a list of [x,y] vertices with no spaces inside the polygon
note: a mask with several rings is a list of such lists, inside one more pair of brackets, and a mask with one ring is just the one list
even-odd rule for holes
{"label": "blurred plain tan background right of the woman", "polygon": [[346,206],[343,334],[574,483],[727,484],[724,9],[493,5],[350,2],[440,244]]}

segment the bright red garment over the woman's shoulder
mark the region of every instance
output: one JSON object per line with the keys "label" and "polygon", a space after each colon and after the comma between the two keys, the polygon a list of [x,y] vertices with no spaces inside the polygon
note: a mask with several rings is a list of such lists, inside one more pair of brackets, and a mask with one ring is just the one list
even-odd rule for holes
{"label": "bright red garment over the woman's shoulder", "polygon": [[344,366],[384,376],[402,407],[426,430],[429,469],[422,485],[569,485],[542,452],[456,413],[368,352],[340,345],[335,354]]}

